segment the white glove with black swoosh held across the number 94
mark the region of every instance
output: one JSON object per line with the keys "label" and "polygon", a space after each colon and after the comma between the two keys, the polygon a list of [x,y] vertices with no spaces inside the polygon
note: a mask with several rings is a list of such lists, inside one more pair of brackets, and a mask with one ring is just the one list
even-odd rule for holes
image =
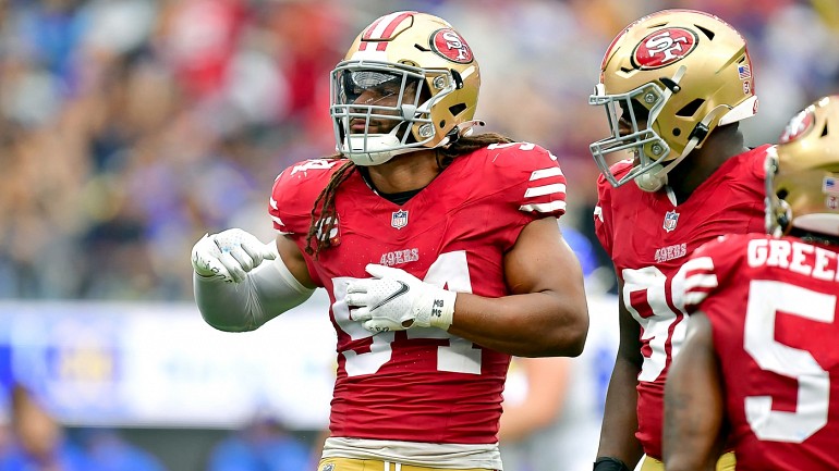
{"label": "white glove with black swoosh held across the number 94", "polygon": [[346,285],[350,319],[370,332],[404,331],[413,326],[448,330],[458,294],[420,281],[404,270],[368,264],[373,278]]}

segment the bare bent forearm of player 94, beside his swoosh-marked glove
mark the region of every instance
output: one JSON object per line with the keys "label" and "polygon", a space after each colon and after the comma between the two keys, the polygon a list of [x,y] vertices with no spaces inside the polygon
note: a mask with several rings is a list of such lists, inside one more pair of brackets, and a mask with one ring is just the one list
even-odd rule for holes
{"label": "bare bent forearm of player 94, beside his swoosh-marked glove", "polygon": [[520,357],[575,357],[588,333],[585,297],[552,292],[485,298],[459,293],[449,333]]}

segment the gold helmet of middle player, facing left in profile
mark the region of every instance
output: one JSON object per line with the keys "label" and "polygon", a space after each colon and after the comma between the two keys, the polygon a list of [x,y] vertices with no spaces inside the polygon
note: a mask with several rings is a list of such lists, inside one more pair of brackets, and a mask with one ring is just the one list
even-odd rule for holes
{"label": "gold helmet of middle player, facing left in profile", "polygon": [[[644,16],[612,40],[588,103],[606,109],[611,128],[611,136],[591,145],[604,176],[616,187],[634,179],[656,191],[715,127],[757,111],[745,39],[698,11]],[[618,151],[631,151],[635,159],[621,178],[607,161]]]}

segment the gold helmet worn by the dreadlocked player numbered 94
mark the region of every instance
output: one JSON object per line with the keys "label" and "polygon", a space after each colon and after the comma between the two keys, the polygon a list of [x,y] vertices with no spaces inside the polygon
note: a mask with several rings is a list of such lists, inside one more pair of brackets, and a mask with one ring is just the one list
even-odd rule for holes
{"label": "gold helmet worn by the dreadlocked player numbered 94", "polygon": [[357,165],[445,146],[475,124],[481,73],[446,21],[394,12],[355,38],[331,74],[336,149]]}

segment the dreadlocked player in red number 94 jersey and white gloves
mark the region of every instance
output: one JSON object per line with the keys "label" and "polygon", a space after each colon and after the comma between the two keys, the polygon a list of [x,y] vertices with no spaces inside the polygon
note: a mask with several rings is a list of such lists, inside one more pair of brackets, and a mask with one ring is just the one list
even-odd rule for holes
{"label": "dreadlocked player in red number 94 jersey and white gloves", "polygon": [[193,249],[196,301],[220,330],[329,294],[320,470],[501,469],[510,356],[583,349],[582,270],[557,225],[564,176],[539,146],[472,134],[479,83],[443,20],[376,20],[331,74],[339,154],[275,182],[276,244],[229,230]]}

